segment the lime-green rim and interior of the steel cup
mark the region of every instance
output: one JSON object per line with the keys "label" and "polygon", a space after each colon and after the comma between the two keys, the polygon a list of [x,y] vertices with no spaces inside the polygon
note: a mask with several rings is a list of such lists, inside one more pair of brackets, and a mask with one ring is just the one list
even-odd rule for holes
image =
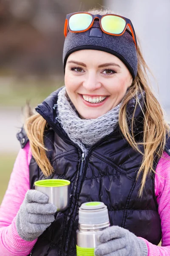
{"label": "lime-green rim and interior of the steel cup", "polygon": [[[58,184],[54,185],[55,181],[57,181]],[[61,187],[70,185],[70,181],[62,179],[37,180],[34,182],[34,185],[39,187]]]}

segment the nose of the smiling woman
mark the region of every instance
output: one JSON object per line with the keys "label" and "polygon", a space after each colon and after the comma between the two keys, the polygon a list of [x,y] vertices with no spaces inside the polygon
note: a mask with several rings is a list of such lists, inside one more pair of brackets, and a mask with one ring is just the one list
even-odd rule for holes
{"label": "nose of the smiling woman", "polygon": [[93,92],[94,90],[99,89],[102,87],[102,84],[100,81],[97,79],[96,74],[88,74],[88,76],[85,78],[85,81],[83,82],[83,87],[89,91]]}

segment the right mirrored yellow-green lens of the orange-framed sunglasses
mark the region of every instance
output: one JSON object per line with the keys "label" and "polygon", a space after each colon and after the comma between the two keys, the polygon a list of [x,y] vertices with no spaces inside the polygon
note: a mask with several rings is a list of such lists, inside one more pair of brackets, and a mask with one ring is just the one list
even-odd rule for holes
{"label": "right mirrored yellow-green lens of the orange-framed sunglasses", "polygon": [[121,34],[125,29],[126,21],[118,16],[107,15],[101,20],[102,28],[111,34]]}

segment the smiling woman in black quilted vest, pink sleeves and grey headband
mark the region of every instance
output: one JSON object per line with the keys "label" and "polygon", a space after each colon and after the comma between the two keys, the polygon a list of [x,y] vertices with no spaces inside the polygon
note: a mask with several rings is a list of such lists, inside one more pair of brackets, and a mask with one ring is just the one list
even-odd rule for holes
{"label": "smiling woman in black quilted vest, pink sleeves and grey headband", "polygon": [[[17,134],[22,149],[0,209],[2,256],[75,256],[87,201],[104,202],[111,222],[95,255],[170,255],[169,125],[130,20],[90,13],[67,16],[65,87]],[[44,178],[71,181],[65,212],[32,190]]]}

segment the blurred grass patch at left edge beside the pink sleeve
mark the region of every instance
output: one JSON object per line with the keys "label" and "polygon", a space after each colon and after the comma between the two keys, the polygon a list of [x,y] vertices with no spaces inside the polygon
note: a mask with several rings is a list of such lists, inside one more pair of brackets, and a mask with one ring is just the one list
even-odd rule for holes
{"label": "blurred grass patch at left edge beside the pink sleeve", "polygon": [[0,155],[0,204],[5,195],[16,157],[17,153]]}

